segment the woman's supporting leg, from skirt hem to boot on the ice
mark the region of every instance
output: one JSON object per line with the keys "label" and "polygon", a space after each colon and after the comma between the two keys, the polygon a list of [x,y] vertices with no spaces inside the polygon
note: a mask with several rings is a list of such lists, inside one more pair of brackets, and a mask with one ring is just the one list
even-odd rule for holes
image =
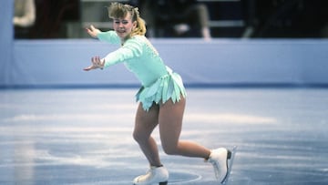
{"label": "woman's supporting leg, from skirt hem to boot on the ice", "polygon": [[151,132],[159,124],[159,106],[153,105],[148,112],[142,108],[142,104],[138,105],[136,123],[133,132],[133,138],[151,166],[160,166],[159,149],[155,139],[150,137]]}

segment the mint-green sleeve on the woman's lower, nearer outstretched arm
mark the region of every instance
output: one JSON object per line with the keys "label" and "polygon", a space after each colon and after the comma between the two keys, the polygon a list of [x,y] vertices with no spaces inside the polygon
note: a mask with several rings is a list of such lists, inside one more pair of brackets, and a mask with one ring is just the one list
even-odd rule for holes
{"label": "mint-green sleeve on the woman's lower, nearer outstretched arm", "polygon": [[109,53],[105,59],[104,67],[109,67],[131,59],[136,59],[142,55],[142,46],[136,39],[129,39],[124,46],[118,50]]}

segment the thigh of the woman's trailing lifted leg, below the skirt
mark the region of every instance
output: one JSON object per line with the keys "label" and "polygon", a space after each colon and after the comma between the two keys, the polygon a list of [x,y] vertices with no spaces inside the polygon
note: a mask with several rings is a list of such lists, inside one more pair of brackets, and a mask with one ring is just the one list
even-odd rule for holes
{"label": "thigh of the woman's trailing lifted leg, below the skirt", "polygon": [[179,102],[169,99],[159,108],[159,132],[164,148],[178,145],[185,105],[186,99],[181,97]]}

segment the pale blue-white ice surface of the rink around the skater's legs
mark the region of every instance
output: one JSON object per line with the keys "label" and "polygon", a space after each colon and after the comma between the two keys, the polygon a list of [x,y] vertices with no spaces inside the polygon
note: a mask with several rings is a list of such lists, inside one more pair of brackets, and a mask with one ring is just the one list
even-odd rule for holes
{"label": "pale blue-white ice surface of the rink around the skater's legs", "polygon": [[[0,90],[0,184],[132,184],[137,88]],[[328,89],[187,88],[181,139],[238,146],[230,185],[328,184]],[[154,132],[159,141],[158,129]],[[203,159],[160,156],[169,184],[218,184]]]}

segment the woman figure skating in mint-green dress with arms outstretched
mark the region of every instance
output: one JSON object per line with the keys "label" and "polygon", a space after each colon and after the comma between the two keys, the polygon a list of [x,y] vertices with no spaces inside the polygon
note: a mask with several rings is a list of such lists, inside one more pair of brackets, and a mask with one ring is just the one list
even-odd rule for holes
{"label": "woman figure skating in mint-green dress with arms outstretched", "polygon": [[91,69],[106,68],[118,63],[138,77],[142,87],[136,95],[139,101],[133,138],[149,161],[150,169],[145,175],[133,180],[134,184],[167,184],[169,172],[159,159],[159,150],[151,133],[159,126],[160,141],[165,153],[209,161],[219,182],[228,174],[231,151],[225,148],[207,149],[190,141],[179,140],[182,117],[186,103],[186,90],[181,77],[165,66],[158,51],[145,37],[146,26],[139,16],[138,8],[112,3],[108,15],[113,19],[114,31],[101,32],[94,26],[87,33],[101,41],[118,44],[118,50],[106,57],[92,57]]}

